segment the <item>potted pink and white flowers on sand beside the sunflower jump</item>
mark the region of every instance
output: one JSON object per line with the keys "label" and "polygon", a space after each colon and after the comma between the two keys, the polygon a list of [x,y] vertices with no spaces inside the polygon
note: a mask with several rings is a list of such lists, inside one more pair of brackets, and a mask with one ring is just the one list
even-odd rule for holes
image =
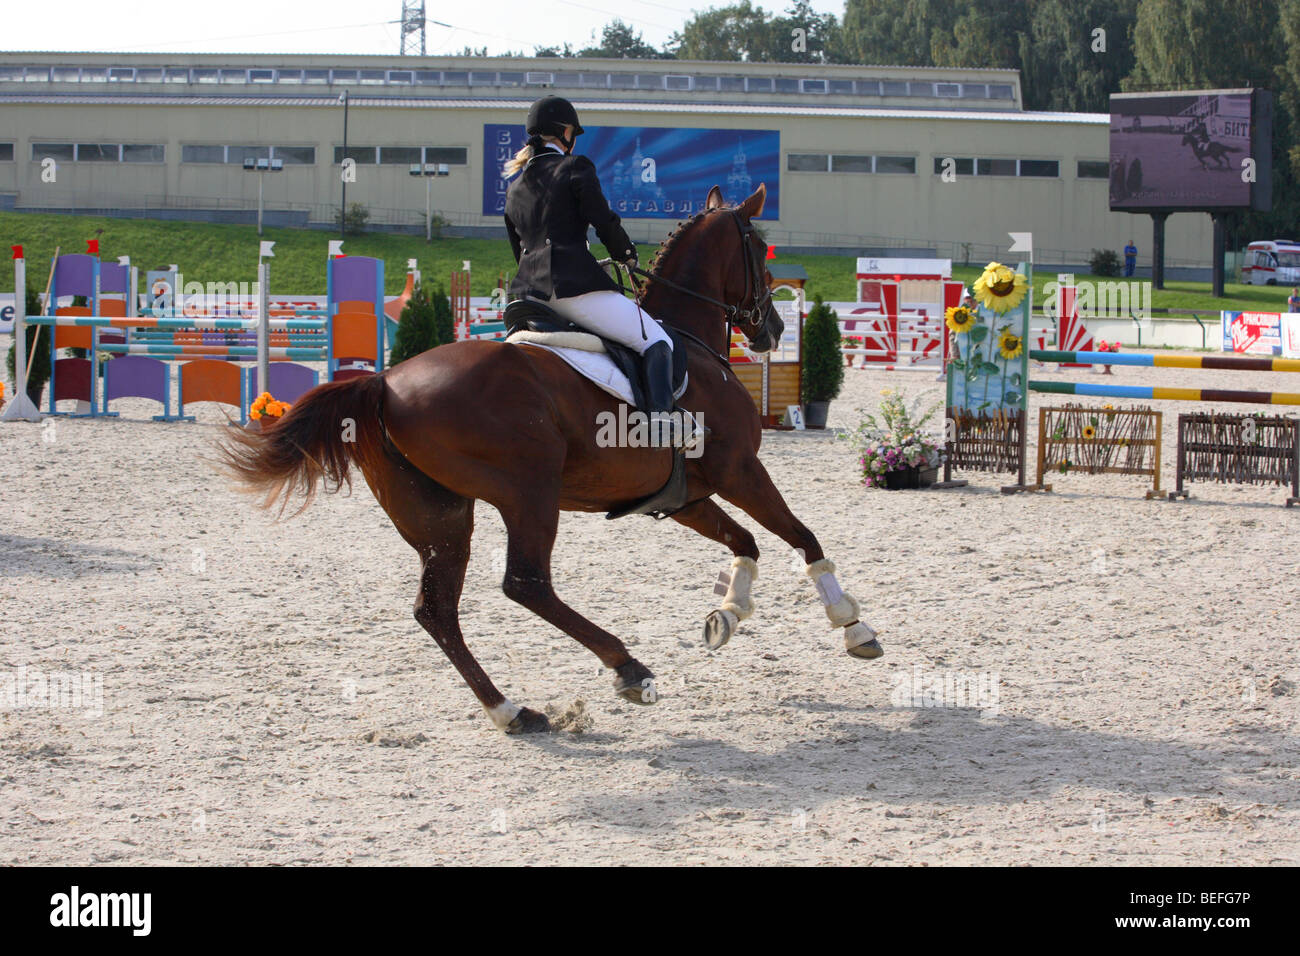
{"label": "potted pink and white flowers on sand beside the sunflower jump", "polygon": [[878,415],[867,415],[857,431],[849,436],[862,483],[867,488],[928,488],[939,480],[942,450],[922,434],[922,428],[942,407],[936,402],[918,415],[916,406],[909,408],[902,394],[893,389],[880,393],[884,401]]}

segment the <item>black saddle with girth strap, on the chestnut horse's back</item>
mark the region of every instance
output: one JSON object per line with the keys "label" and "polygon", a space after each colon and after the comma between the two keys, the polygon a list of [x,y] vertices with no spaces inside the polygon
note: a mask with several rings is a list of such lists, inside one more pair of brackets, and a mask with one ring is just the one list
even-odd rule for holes
{"label": "black saddle with girth strap, on the chestnut horse's back", "polygon": [[[538,336],[554,336],[559,341],[552,339],[551,343],[559,347],[589,349],[589,346],[581,343],[581,339],[571,338],[569,341],[564,341],[562,337],[581,336],[588,339],[595,339],[595,342],[604,347],[606,354],[614,362],[615,367],[628,377],[636,407],[641,411],[649,411],[641,356],[632,349],[584,329],[550,306],[534,299],[516,299],[508,303],[504,319],[507,341],[512,337],[519,341],[519,333],[533,333]],[[672,397],[681,398],[681,394],[686,390],[686,341],[677,334],[676,329],[664,325],[663,330],[672,339]],[[532,341],[538,339],[534,338]],[[641,501],[629,502],[614,509],[606,514],[606,518],[650,515],[655,520],[659,520],[681,511],[689,503],[686,498],[686,454],[684,449],[676,449],[672,455],[672,472],[668,475],[668,480],[663,488]]]}

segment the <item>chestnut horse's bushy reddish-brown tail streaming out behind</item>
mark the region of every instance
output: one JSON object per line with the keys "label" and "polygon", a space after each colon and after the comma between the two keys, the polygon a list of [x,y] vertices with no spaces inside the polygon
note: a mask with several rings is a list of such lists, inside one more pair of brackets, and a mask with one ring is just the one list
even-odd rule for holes
{"label": "chestnut horse's bushy reddish-brown tail streaming out behind", "polygon": [[[351,488],[350,468],[363,472],[384,457],[384,376],[368,375],[318,385],[263,432],[231,431],[221,446],[222,463],[239,484],[261,492],[263,507],[295,496],[303,507],[316,494]],[[299,509],[302,510],[302,509]]]}

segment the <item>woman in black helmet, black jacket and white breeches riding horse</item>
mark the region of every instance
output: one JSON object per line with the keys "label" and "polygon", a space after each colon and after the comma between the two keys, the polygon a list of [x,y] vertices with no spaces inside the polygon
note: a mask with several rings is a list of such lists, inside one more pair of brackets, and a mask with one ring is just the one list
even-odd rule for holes
{"label": "woman in black helmet, black jacket and white breeches riding horse", "polygon": [[566,319],[642,356],[651,415],[671,412],[672,339],[637,302],[624,298],[588,248],[588,225],[610,255],[637,265],[637,251],[610,209],[595,164],[573,155],[582,134],[577,111],[562,96],[543,96],[528,111],[528,143],[506,164],[523,174],[506,194],[506,232],[519,272],[515,298],[546,302]]}

